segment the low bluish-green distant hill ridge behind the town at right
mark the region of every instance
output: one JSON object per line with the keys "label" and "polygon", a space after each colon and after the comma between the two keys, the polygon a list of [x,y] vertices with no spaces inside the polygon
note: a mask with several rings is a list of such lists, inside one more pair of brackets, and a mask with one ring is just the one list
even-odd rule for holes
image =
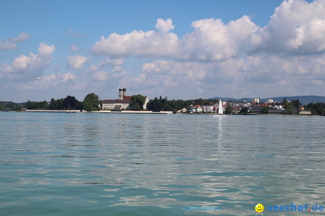
{"label": "low bluish-green distant hill ridge behind the town at right", "polygon": [[[235,98],[230,98],[230,97],[213,97],[213,98],[209,98],[209,99],[218,99],[220,98],[221,100],[224,101],[228,101],[228,100],[237,100],[237,101],[247,101],[247,102],[251,102],[252,101],[252,97],[243,97],[240,99],[235,99]],[[258,97],[259,98],[259,97]],[[273,101],[280,101],[283,100],[283,98],[286,98],[288,101],[292,101],[292,99],[299,99],[299,102],[302,105],[307,105],[309,103],[316,103],[316,102],[323,102],[325,103],[325,97],[324,96],[314,96],[314,95],[308,95],[308,96],[292,96],[292,97],[268,97],[268,98],[259,98],[260,102],[266,102],[267,99],[273,99]]]}

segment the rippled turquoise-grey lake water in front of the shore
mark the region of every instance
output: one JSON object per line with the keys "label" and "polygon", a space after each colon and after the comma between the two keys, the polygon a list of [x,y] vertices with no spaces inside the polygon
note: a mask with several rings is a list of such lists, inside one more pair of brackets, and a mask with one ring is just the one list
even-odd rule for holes
{"label": "rippled turquoise-grey lake water in front of the shore", "polygon": [[0,122],[0,215],[325,205],[324,117],[0,112]]}

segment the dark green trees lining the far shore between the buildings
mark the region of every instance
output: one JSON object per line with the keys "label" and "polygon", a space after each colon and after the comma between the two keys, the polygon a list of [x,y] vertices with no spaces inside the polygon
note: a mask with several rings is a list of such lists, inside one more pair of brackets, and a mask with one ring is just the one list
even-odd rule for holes
{"label": "dark green trees lining the far shore between the buildings", "polygon": [[[155,97],[154,99],[150,99],[147,103],[147,110],[153,112],[159,111],[173,111],[173,110],[181,110],[183,108],[188,108],[190,105],[200,105],[200,106],[207,106],[207,105],[215,105],[217,104],[217,99],[193,99],[193,100],[168,100],[167,96],[162,98],[161,96]],[[240,114],[244,115],[248,113],[248,108],[243,107],[240,109],[240,112],[233,112],[230,103],[241,103],[244,101],[231,101],[228,100],[225,113],[226,114]],[[78,101],[73,96],[67,96],[66,98],[54,99],[51,98],[49,102],[41,101],[41,102],[34,102],[28,100],[24,103],[15,103],[15,102],[0,102],[0,110],[1,111],[21,111],[22,108],[26,109],[38,109],[38,110],[67,110],[69,107],[71,110],[85,110],[87,112],[92,111],[99,111],[100,108],[98,105],[102,107],[103,100],[99,99],[99,97],[95,93],[87,94],[83,101]],[[143,105],[145,104],[145,97],[141,95],[133,95],[130,99],[130,107],[131,110],[140,111],[143,110]],[[263,105],[264,103],[255,103],[253,106]],[[299,109],[302,104],[299,102],[299,99],[292,99],[292,101],[286,100],[283,98],[281,102],[274,102],[270,103],[271,106],[274,105],[282,105],[282,107],[286,110],[285,114],[293,114],[292,110]],[[307,105],[303,105],[305,110],[309,110],[311,115],[324,115],[325,113],[325,103],[308,103]],[[261,110],[261,114],[268,113],[268,106],[264,106]],[[117,110],[116,110],[117,111]],[[188,111],[186,111],[188,112]],[[185,112],[185,113],[186,113]],[[202,111],[202,113],[207,113]]]}

